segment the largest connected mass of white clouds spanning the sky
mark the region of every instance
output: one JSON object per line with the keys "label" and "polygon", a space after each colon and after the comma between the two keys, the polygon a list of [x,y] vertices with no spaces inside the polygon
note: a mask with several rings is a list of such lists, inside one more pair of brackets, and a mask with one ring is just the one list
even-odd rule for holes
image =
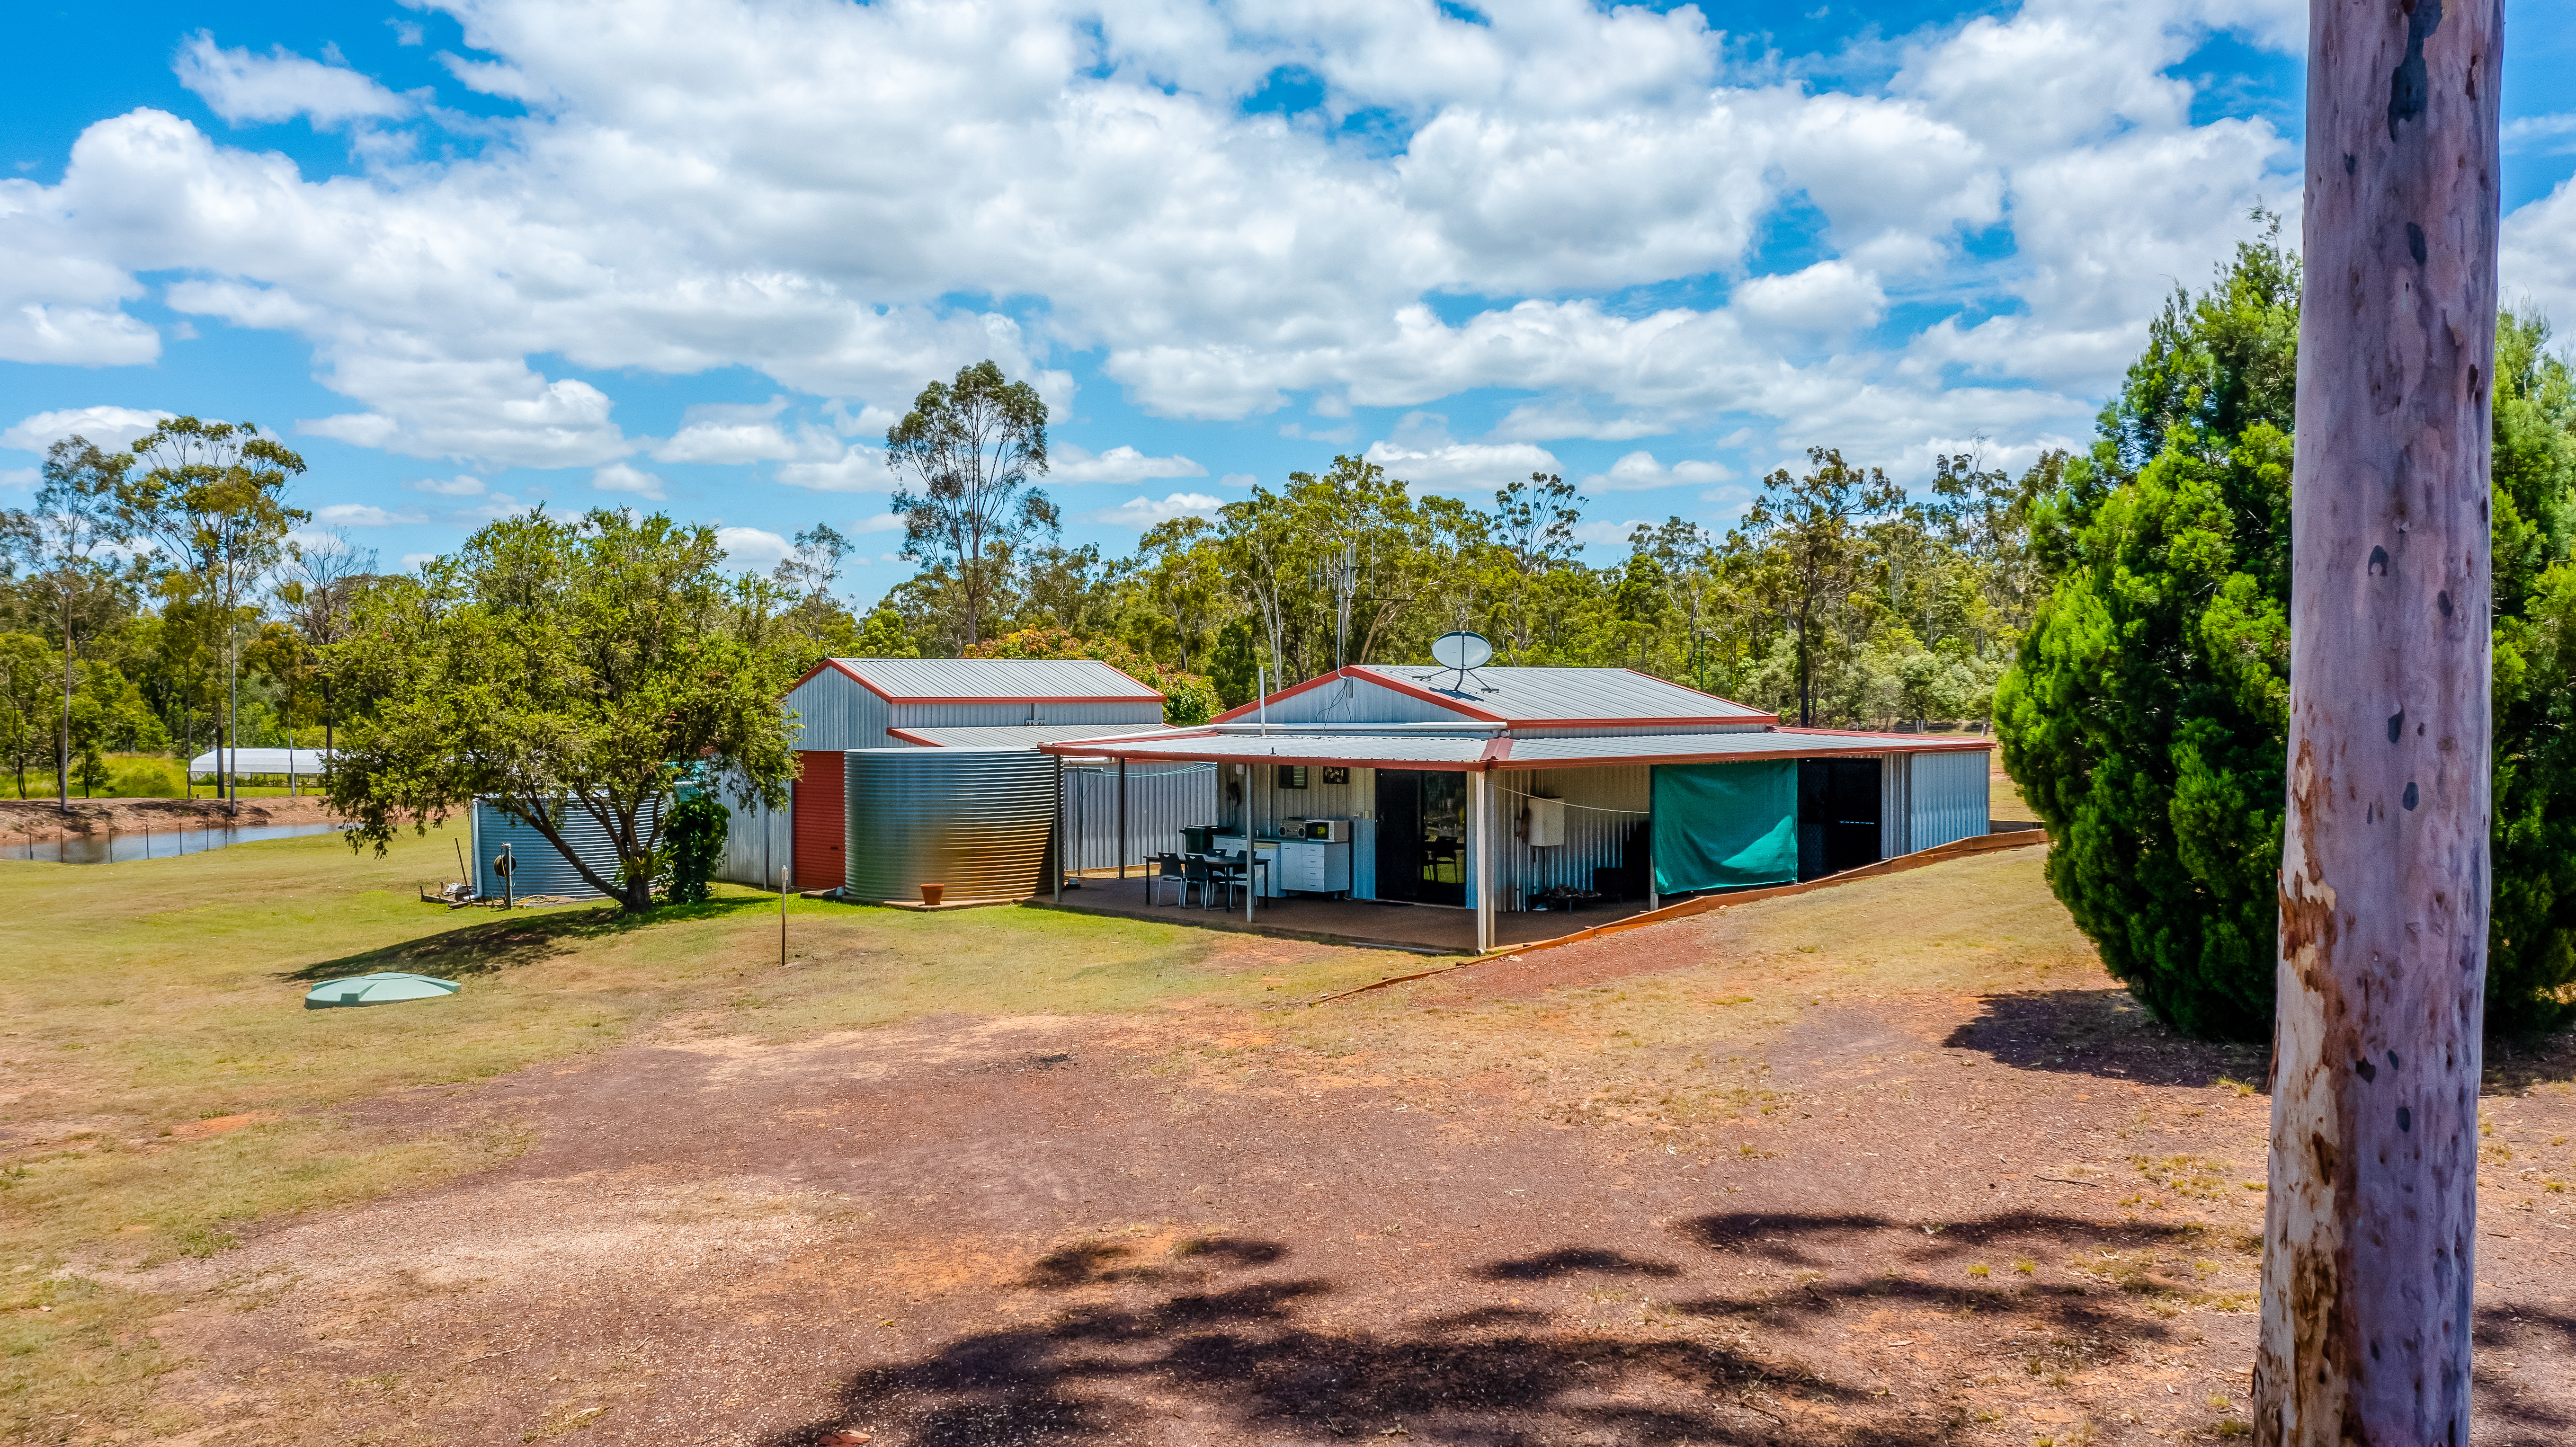
{"label": "largest connected mass of white clouds spanning the sky", "polygon": [[[1698,8],[1025,0],[961,21],[479,0],[471,46],[492,59],[451,70],[531,113],[466,147],[430,144],[440,113],[343,64],[201,33],[178,64],[216,113],[422,144],[307,178],[160,111],[93,124],[59,183],[0,180],[0,358],[152,360],[162,337],[124,306],[142,275],[180,273],[175,312],[307,340],[350,399],[309,433],[546,469],[639,451],[580,376],[747,368],[835,399],[832,427],[871,438],[922,381],[981,358],[1061,412],[1074,350],[1170,417],[1296,394],[1319,417],[1479,386],[1584,399],[1448,448],[1731,415],[1909,440],[1945,425],[1950,366],[1981,368],[1981,425],[2058,427],[2117,376],[2172,278],[2205,275],[2251,201],[2295,196],[2290,144],[2267,121],[2195,124],[2179,80],[2218,28],[2295,54],[2293,10],[2025,0],[1888,44],[1891,80],[1837,88],[1731,62]],[[1319,77],[1316,116],[1239,108],[1278,64]],[[1391,129],[1355,144],[1337,131],[1355,113]],[[1826,260],[1747,278],[1793,196],[1821,214]],[[2009,229],[2007,260],[1963,252],[1986,227]],[[1734,301],[1636,314],[1587,296],[1687,278],[1731,281]],[[1043,322],[958,296],[1036,299],[1015,312]],[[1443,319],[1430,296],[1494,301]],[[1940,345],[1984,353],[1950,360],[1839,340],[1919,301],[1976,301],[2017,332],[1958,342],[1981,327],[1953,322]],[[775,412],[641,445],[778,463],[791,487],[891,487]],[[1113,481],[1146,476],[1203,474]]]}

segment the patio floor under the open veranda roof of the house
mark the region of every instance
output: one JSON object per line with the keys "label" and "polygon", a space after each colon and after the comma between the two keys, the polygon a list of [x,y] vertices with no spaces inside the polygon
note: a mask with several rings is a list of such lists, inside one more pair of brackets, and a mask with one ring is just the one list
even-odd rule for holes
{"label": "patio floor under the open veranda roof of the house", "polygon": [[[1378,901],[1378,899],[1327,899],[1327,896],[1283,896],[1283,899],[1257,899],[1252,906],[1252,922],[1244,922],[1242,896],[1234,896],[1234,906],[1226,909],[1200,909],[1198,896],[1190,904],[1175,904],[1175,888],[1162,886],[1162,904],[1151,904],[1154,881],[1146,878],[1149,865],[1131,865],[1128,878],[1121,881],[1115,873],[1087,873],[1082,886],[1066,881],[1064,909],[1082,909],[1087,914],[1128,914],[1136,919],[1162,919],[1167,924],[1206,924],[1213,929],[1252,929],[1265,935],[1291,935],[1298,940],[1329,940],[1340,945],[1386,945],[1396,950],[1422,950],[1440,955],[1473,955],[1476,953],[1476,911],[1445,904],[1404,904],[1404,901]],[[1054,896],[1038,896],[1030,904],[1054,906]],[[1613,919],[1628,919],[1631,914],[1643,914],[1646,901],[1631,899],[1584,904],[1574,911],[1499,911],[1494,914],[1494,945],[1533,945],[1538,940],[1553,940],[1558,935],[1574,935],[1577,929],[1592,929],[1597,924],[1610,924]]]}

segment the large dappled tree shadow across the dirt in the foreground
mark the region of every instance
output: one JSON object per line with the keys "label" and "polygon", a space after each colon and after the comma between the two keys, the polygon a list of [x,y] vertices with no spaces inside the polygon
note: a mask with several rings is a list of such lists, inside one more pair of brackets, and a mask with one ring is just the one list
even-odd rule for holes
{"label": "large dappled tree shadow across the dirt in the foreground", "polygon": [[[1146,1264],[1131,1246],[1064,1249],[1023,1287],[1149,1285],[1118,1300],[1087,1298],[1030,1326],[974,1331],[912,1359],[868,1367],[837,1390],[837,1411],[768,1439],[824,1442],[855,1426],[881,1442],[966,1447],[992,1442],[1126,1442],[1185,1429],[1216,1437],[1414,1437],[1473,1444],[1811,1444],[1929,1447],[1965,1429],[1953,1393],[1924,1383],[1891,1390],[1878,1365],[1857,1365],[1821,1331],[1850,1331],[1891,1305],[1919,1305],[1945,1331],[1942,1377],[1991,1370],[2014,1377],[2079,1370],[2136,1344],[2197,1339],[2187,1280],[2156,1274],[2174,1251],[2226,1249],[2190,1226],[2112,1226],[2009,1213],[1971,1220],[1878,1215],[1703,1215],[1674,1228],[1703,1254],[1687,1274],[1723,1293],[1633,1303],[1633,1323],[1571,1329],[1520,1303],[1471,1305],[1412,1321],[1355,1318],[1342,1287],[1319,1274],[1260,1274],[1285,1264],[1278,1241]],[[2076,1282],[1976,1282],[1963,1262],[1999,1251],[2069,1259]],[[1762,1269],[1747,1272],[1747,1259]],[[2190,1267],[2179,1269],[2184,1277]],[[1602,1246],[1558,1246],[1471,1264],[1468,1282],[1564,1274],[1654,1277],[1685,1267]],[[1736,1285],[1741,1282],[1741,1285]],[[1682,1282],[1674,1282],[1682,1285]],[[1486,1290],[1494,1290],[1492,1285]],[[1662,1290],[1662,1287],[1659,1287]],[[1690,1290],[1690,1287],[1685,1287]],[[1592,1298],[1620,1300],[1625,1298]],[[1839,1318],[1829,1321],[1829,1318]],[[1754,1347],[1754,1331],[1767,1334]],[[1819,1365],[1824,1362],[1824,1365]],[[1888,1370],[1911,1370],[1891,1365]],[[1182,1419],[1188,1421],[1170,1421]]]}

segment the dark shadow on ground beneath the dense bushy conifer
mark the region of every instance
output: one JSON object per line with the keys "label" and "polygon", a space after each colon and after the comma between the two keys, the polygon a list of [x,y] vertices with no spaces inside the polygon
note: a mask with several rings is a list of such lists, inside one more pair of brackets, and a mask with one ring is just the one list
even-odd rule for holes
{"label": "dark shadow on ground beneath the dense bushy conifer", "polygon": [[2159,1087],[2246,1081],[2264,1089],[2269,1048],[2192,1040],[2156,1022],[2125,989],[1989,994],[1986,1009],[1942,1040],[2002,1066],[2066,1071]]}

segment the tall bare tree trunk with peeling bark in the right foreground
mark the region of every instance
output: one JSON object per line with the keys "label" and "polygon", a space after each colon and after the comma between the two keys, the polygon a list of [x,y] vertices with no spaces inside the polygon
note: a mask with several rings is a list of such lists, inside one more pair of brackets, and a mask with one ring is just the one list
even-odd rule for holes
{"label": "tall bare tree trunk with peeling bark in the right foreground", "polygon": [[2308,10],[2262,1444],[2468,1442],[2501,44]]}

